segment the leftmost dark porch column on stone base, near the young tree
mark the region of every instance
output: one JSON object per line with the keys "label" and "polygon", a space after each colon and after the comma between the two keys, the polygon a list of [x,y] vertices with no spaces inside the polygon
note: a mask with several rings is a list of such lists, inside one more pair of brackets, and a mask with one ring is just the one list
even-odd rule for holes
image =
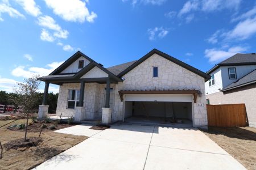
{"label": "leftmost dark porch column on stone base, near the young tree", "polygon": [[48,90],[49,90],[49,82],[46,82],[46,86],[44,86],[43,102],[42,102],[42,105],[39,105],[39,109],[38,109],[38,118],[39,119],[45,118],[48,114],[49,105],[46,105]]}

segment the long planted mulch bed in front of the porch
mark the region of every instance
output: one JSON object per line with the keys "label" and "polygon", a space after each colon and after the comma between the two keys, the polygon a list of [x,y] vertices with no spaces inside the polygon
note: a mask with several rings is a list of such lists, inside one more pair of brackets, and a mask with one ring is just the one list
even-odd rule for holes
{"label": "long planted mulch bed in front of the porch", "polygon": [[[27,131],[28,132],[40,132],[42,128],[43,122],[38,121],[35,123],[32,123],[31,125],[28,125]],[[51,130],[58,130],[63,128],[68,128],[70,126],[78,125],[78,124],[67,124],[67,122],[61,122],[60,124],[57,124],[57,121],[50,121],[47,124],[44,124],[45,128],[43,128],[43,131],[51,131]],[[7,127],[9,130],[13,131],[25,131],[25,129],[20,129],[18,126],[9,126]]]}

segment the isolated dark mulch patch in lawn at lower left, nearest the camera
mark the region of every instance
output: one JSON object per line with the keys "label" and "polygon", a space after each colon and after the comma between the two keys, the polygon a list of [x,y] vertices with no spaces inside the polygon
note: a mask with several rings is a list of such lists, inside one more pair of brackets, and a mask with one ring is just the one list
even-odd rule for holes
{"label": "isolated dark mulch patch in lawn at lower left, nearest the camera", "polygon": [[37,146],[38,143],[42,142],[43,140],[41,138],[31,137],[27,138],[26,141],[24,141],[24,138],[16,139],[14,141],[7,142],[3,145],[6,150],[10,149],[18,149],[19,147],[32,147]]}

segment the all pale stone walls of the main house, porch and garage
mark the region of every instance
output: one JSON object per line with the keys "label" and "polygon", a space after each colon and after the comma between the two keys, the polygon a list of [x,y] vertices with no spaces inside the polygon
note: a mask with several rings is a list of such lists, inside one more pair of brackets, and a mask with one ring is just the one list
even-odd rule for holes
{"label": "all pale stone walls of the main house, porch and garage", "polygon": [[[153,78],[152,66],[158,66],[158,78]],[[153,54],[143,61],[129,73],[123,76],[122,83],[111,84],[113,88],[113,103],[111,120],[123,121],[123,102],[120,100],[119,90],[201,90],[203,95],[197,96],[196,103],[193,103],[193,120],[195,126],[207,125],[207,110],[205,105],[204,78],[191,71],[176,65],[166,58]],[[104,107],[104,90],[106,84],[85,83],[84,94],[84,119],[102,117]],[[57,114],[63,116],[75,116],[76,109],[67,109],[69,89],[80,89],[80,84],[63,84],[60,86]],[[108,117],[109,118],[109,117]]]}

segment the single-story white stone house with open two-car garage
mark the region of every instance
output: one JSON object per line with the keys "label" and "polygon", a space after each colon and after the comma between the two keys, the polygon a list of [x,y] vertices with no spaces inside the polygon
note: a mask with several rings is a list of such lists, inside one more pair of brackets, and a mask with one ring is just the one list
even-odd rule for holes
{"label": "single-story white stone house with open two-car garage", "polygon": [[204,82],[210,76],[159,50],[138,61],[105,68],[81,52],[48,76],[39,117],[48,112],[49,83],[60,86],[56,114],[103,124],[130,117],[176,118],[207,125]]}

